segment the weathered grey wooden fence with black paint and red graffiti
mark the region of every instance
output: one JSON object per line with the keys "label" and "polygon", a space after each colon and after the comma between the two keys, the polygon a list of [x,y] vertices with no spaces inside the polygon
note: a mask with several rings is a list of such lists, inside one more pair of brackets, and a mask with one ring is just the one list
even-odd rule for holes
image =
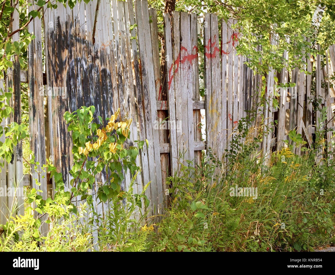
{"label": "weathered grey wooden fence with black paint and red graffiti", "polygon": [[[34,3],[29,6],[29,10],[34,8]],[[92,0],[88,4],[76,3],[72,10],[59,5],[54,10],[45,9],[42,19],[37,17],[29,24],[29,31],[36,38],[29,45],[27,72],[20,72],[15,58],[13,69],[0,82],[3,90],[12,87],[14,91],[10,102],[14,114],[3,124],[21,121],[20,82],[28,83],[30,149],[40,164],[31,175],[23,175],[19,143],[12,161],[2,169],[0,187],[36,187],[36,179],[46,199],[49,187],[54,189],[52,179],[42,169],[48,158],[62,173],[68,188],[73,157],[63,114],[81,106],[94,105],[96,117],[101,116],[104,122],[121,108],[121,116],[134,121],[129,145],[134,140],[148,140],[149,145],[143,147],[137,160],[141,175],[136,179],[135,191],[141,192],[151,182],[146,195],[152,215],[161,214],[169,204],[166,178],[178,171],[180,162],[193,160],[200,164],[201,152],[206,148],[222,159],[233,135],[238,133],[239,120],[259,106],[264,81],[268,103],[258,113],[255,127],[263,119],[272,128],[261,144],[267,159],[271,151],[283,146],[289,130],[296,129],[308,145],[313,143],[314,125],[320,127],[317,118],[321,114],[310,101],[314,96],[312,82],[316,85],[315,95],[327,108],[328,118],[333,116],[335,94],[328,76],[335,71],[335,46],[327,52],[330,58],[326,58],[325,66],[321,67],[320,56],[307,60],[306,71],[312,72],[315,63],[315,75],[296,68],[292,73],[269,68],[264,80],[244,64],[244,56],[237,55],[241,34],[233,28],[236,21],[220,21],[216,14],[205,14],[200,20],[194,13],[173,12],[171,17],[164,14],[163,18],[166,79],[161,79],[157,15],[156,10],[148,8],[146,0],[135,0],[134,5],[132,0]],[[198,52],[200,21],[204,26],[204,53]],[[18,14],[14,14],[12,28],[17,27]],[[13,40],[18,39],[13,36]],[[275,36],[272,43],[276,43]],[[202,62],[204,83],[199,82]],[[295,88],[281,90],[277,109],[272,106],[275,77],[280,83],[296,84]],[[204,98],[200,96],[202,84]],[[200,110],[205,112],[205,141]],[[275,120],[278,123],[273,125]],[[331,119],[328,122],[323,127],[334,127]],[[330,134],[327,139],[329,144],[333,140]],[[295,150],[300,153],[300,148]],[[105,183],[106,171],[96,180]],[[127,189],[129,184],[128,172],[122,188]],[[92,192],[94,195],[95,190]],[[106,213],[108,203],[99,204],[95,199],[96,211]],[[5,221],[6,208],[13,200],[18,206],[17,214],[23,213],[22,197],[0,197],[0,223]]]}

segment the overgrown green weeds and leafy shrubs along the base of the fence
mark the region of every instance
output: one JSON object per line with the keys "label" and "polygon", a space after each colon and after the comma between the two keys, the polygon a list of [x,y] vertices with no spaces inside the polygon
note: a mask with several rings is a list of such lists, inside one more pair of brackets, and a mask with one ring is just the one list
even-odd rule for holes
{"label": "overgrown green weeds and leafy shrubs along the base of the fence", "polygon": [[[69,130],[75,133],[75,163],[80,164],[71,170],[76,176],[71,191],[64,192],[61,175],[49,165],[59,180],[55,200],[44,201],[33,189],[27,200],[35,203],[35,208],[29,206],[24,216],[13,217],[2,226],[0,251],[313,251],[333,243],[335,165],[329,157],[316,164],[320,149],[325,148],[323,131],[317,133],[315,146],[306,148],[302,156],[292,152],[294,146],[302,146],[301,137],[290,135],[294,142],[274,152],[270,164],[264,166],[257,151],[263,133],[251,131],[252,119],[249,123],[240,121],[240,132],[227,150],[230,164],[223,166],[210,152],[203,155],[200,166],[181,163],[176,175],[169,178],[171,205],[160,222],[153,224],[144,211],[148,205],[145,190],[133,194],[136,169],[126,192],[115,181],[120,180],[116,175],[115,188],[112,182],[100,186],[95,196],[107,201],[105,194],[110,210],[105,217],[96,212],[90,199],[94,197],[90,176],[85,173],[92,173],[94,178],[99,163],[113,159],[115,165],[121,151],[126,150],[122,144],[129,132],[127,126],[122,129],[126,122],[115,122],[117,114],[110,120],[117,130],[113,128],[106,138],[110,128],[99,131],[99,125],[92,122],[92,109],[65,115]],[[99,138],[105,143],[99,146],[101,151],[95,145]],[[87,139],[92,140],[92,146]],[[115,141],[114,152],[110,144]],[[98,165],[92,162],[80,170],[90,156]],[[104,163],[100,170],[106,165],[110,163]],[[78,196],[80,206],[73,203]],[[34,216],[33,210],[41,216]],[[41,221],[44,213],[48,218]],[[39,231],[41,222],[50,223],[47,235]],[[93,237],[95,230],[98,235]]]}

